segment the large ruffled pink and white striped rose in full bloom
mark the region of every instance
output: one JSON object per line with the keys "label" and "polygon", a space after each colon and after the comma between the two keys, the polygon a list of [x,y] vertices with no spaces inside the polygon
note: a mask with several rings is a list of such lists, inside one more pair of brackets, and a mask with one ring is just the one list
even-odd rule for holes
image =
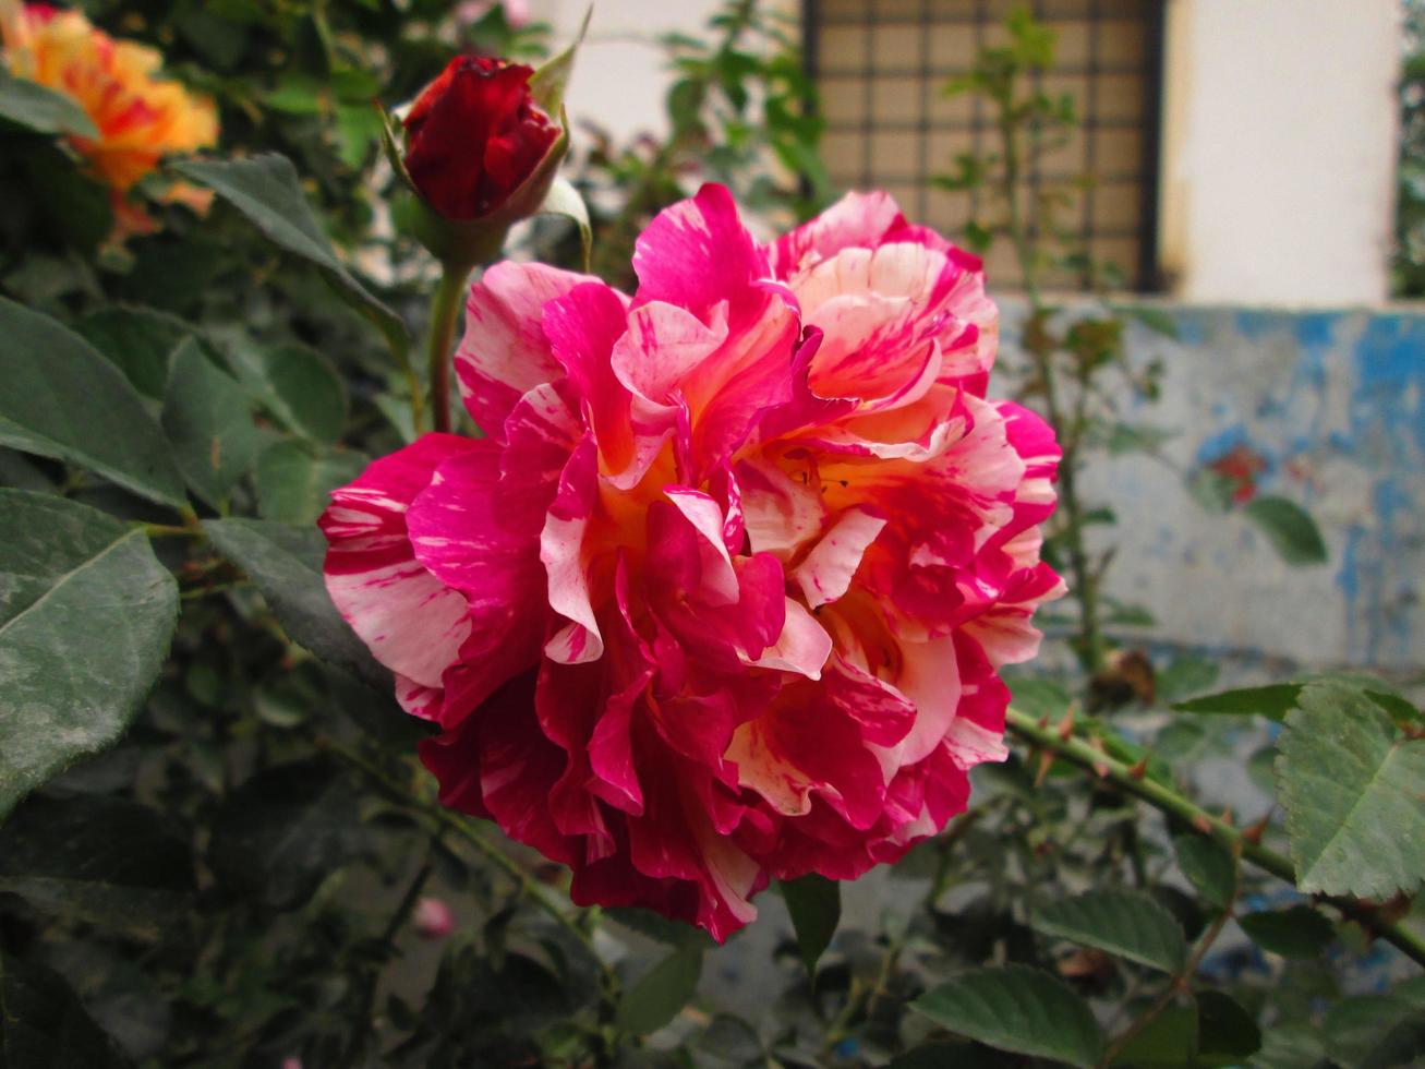
{"label": "large ruffled pink and white striped rose in full bloom", "polygon": [[985,398],[980,264],[852,194],[758,245],[658,215],[633,296],[490,268],[456,353],[487,438],[336,490],[332,599],[439,735],[447,805],[581,904],[717,939],[770,878],[846,879],[963,811],[1035,656],[1059,449]]}

